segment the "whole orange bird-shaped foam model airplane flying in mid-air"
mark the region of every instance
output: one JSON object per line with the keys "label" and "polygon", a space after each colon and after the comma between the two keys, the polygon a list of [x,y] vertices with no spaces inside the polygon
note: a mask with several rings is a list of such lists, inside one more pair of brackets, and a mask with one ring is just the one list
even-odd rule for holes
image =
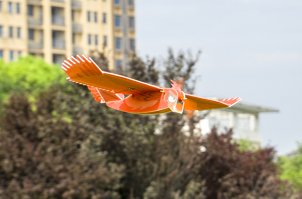
{"label": "whole orange bird-shaped foam model airplane flying in mid-air", "polygon": [[[172,88],[163,88],[125,76],[102,71],[95,62],[84,55],[82,58],[67,58],[63,70],[69,81],[88,86],[96,101],[108,107],[135,114],[159,114],[185,109],[190,119],[195,110],[227,108],[241,98],[228,98],[220,101],[191,95],[182,91],[183,78],[171,80]],[[125,98],[125,95],[129,95]]]}

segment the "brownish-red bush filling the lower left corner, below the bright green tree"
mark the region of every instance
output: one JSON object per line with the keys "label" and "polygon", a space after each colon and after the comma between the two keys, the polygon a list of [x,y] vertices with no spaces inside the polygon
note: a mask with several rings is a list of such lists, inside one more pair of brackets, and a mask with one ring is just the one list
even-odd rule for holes
{"label": "brownish-red bush filling the lower left corner, below the bright green tree", "polygon": [[[0,198],[119,198],[123,166],[90,150],[87,131],[64,121],[59,98],[13,95],[1,120]],[[81,147],[78,144],[81,143]]]}

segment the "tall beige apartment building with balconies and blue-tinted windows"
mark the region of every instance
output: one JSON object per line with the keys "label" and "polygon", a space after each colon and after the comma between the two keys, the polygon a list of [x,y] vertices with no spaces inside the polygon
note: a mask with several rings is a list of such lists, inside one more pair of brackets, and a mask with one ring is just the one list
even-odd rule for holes
{"label": "tall beige apartment building with balconies and blue-tinted windows", "polygon": [[0,58],[32,54],[61,64],[97,50],[111,70],[126,69],[134,21],[134,0],[0,0]]}

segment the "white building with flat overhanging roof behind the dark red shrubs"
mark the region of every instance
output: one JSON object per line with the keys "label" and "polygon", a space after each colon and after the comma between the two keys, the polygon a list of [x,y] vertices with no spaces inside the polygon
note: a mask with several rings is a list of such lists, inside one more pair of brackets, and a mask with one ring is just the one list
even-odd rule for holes
{"label": "white building with flat overhanging roof behind the dark red shrubs", "polygon": [[194,133],[205,135],[214,126],[217,127],[218,133],[226,132],[225,128],[232,128],[234,140],[248,140],[259,148],[262,142],[259,133],[259,113],[262,112],[278,110],[239,102],[230,108],[201,111],[195,114],[203,116],[204,119],[195,125]]}

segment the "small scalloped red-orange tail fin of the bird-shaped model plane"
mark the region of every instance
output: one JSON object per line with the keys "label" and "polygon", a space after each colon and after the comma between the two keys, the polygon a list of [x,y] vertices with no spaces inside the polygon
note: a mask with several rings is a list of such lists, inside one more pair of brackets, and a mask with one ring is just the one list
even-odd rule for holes
{"label": "small scalloped red-orange tail fin of the bird-shaped model plane", "polygon": [[124,99],[123,94],[115,94],[113,91],[110,90],[99,89],[91,86],[88,86],[88,89],[91,91],[91,94],[95,98],[95,101],[99,101],[101,103],[116,102]]}

